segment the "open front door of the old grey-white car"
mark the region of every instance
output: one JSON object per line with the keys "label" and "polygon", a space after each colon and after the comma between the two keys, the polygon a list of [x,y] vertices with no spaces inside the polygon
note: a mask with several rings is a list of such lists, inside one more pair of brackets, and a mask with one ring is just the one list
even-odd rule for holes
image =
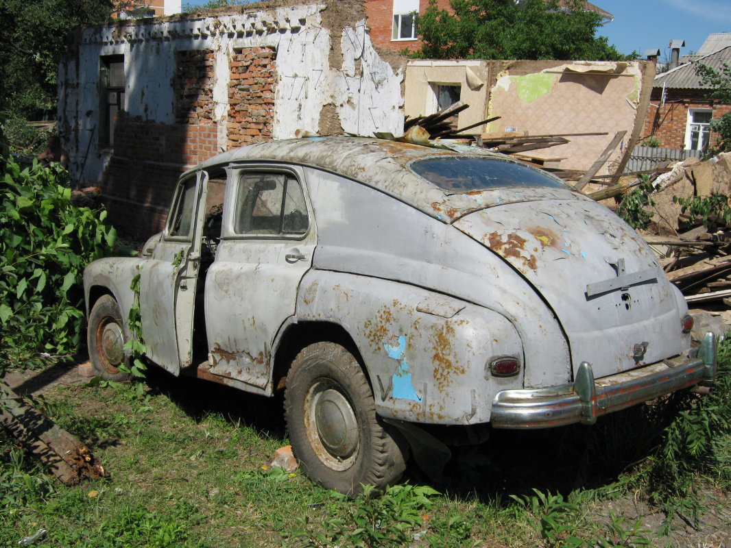
{"label": "open front door of the old grey-white car", "polygon": [[178,375],[192,362],[193,314],[208,175],[175,189],[161,241],[140,270],[140,316],[147,356]]}

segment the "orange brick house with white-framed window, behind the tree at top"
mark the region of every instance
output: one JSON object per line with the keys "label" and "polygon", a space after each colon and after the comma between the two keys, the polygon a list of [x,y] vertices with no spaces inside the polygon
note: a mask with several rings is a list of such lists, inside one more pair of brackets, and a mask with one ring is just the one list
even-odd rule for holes
{"label": "orange brick house with white-framed window, behind the tree at top", "polygon": [[[452,11],[450,0],[436,0],[436,5],[439,9]],[[368,28],[374,45],[398,52],[418,50],[421,40],[417,37],[415,21],[428,6],[429,0],[366,0]],[[587,1],[584,6],[601,15],[605,23],[614,18],[609,12]]]}

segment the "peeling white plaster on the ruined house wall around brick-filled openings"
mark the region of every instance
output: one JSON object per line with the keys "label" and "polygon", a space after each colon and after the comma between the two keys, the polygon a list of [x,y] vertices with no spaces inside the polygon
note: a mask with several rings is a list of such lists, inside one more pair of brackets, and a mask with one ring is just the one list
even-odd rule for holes
{"label": "peeling white plaster on the ruined house wall around brick-filled openings", "polygon": [[[344,66],[330,67],[330,31],[322,27],[322,4],[200,20],[169,20],[144,25],[85,29],[79,55],[59,69],[58,115],[69,133],[72,173],[83,185],[101,180],[111,151],[98,151],[99,57],[124,53],[125,110],[154,123],[175,123],[175,51],[213,50],[213,120],[219,146],[227,144],[229,58],[238,48],[275,47],[276,96],[273,137],[317,132],[324,104],[336,104],[346,132],[399,134],[403,75],[382,61],[366,33],[365,21],[340,38]],[[355,70],[360,64],[360,72]],[[88,151],[88,153],[87,153]],[[86,161],[85,161],[86,158]],[[83,169],[83,172],[82,172]]]}

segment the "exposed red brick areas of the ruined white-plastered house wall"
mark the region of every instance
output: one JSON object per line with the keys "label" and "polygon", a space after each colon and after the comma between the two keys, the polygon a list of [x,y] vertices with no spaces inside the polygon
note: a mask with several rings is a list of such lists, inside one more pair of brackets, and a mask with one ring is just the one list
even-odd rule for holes
{"label": "exposed red brick areas of the ruined white-plastered house wall", "polygon": [[[270,140],[276,50],[248,47],[230,58],[228,148]],[[164,228],[181,173],[221,152],[213,121],[211,50],[178,51],[173,77],[175,123],[151,123],[120,113],[114,154],[102,176],[102,201],[115,227],[137,237]],[[223,201],[223,186],[209,189],[209,205]]]}

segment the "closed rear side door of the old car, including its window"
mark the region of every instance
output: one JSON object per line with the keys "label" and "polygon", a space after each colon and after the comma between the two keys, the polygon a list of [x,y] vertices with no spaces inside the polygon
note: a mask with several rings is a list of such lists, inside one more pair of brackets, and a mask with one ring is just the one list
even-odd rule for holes
{"label": "closed rear side door of the old car, including its window", "polygon": [[268,392],[270,349],[295,313],[316,243],[299,167],[232,170],[224,231],[208,270],[205,321],[211,373]]}

